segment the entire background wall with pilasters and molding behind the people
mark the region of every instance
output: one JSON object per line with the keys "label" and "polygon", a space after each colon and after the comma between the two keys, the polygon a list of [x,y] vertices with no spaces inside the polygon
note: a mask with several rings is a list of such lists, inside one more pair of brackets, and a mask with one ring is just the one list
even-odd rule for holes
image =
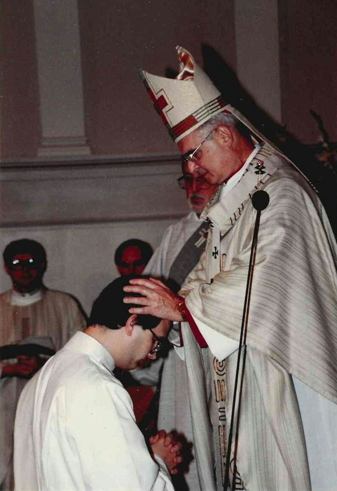
{"label": "entire background wall with pilasters and molding behind the people", "polygon": [[[152,108],[139,68],[163,76],[177,70],[174,48],[181,44],[201,65],[207,54],[215,76],[226,74],[220,79],[229,97],[246,92],[300,141],[319,138],[311,108],[337,138],[333,0],[53,5],[1,1],[0,247],[20,237],[40,240],[49,256],[46,283],[75,294],[87,310],[116,275],[112,256],[122,240],[139,237],[156,246],[167,225],[186,213],[176,185],[177,148]],[[73,23],[64,22],[70,8]],[[48,83],[43,56],[49,59]],[[214,64],[219,58],[221,70]],[[43,147],[42,114],[58,138],[52,151]],[[81,120],[79,153],[69,127]],[[0,282],[1,290],[9,286],[4,273]]]}

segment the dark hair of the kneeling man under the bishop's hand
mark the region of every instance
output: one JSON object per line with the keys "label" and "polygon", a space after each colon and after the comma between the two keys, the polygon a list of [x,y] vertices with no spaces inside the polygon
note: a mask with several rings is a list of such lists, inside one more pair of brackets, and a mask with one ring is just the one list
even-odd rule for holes
{"label": "dark hair of the kneeling man under the bishop's hand", "polygon": [[[109,329],[118,329],[118,326],[125,326],[127,320],[132,315],[129,312],[131,307],[139,307],[135,303],[124,303],[124,297],[142,297],[139,293],[129,293],[123,287],[129,285],[131,278],[141,278],[135,274],[120,276],[109,283],[94,301],[87,326],[99,324]],[[138,315],[137,324],[143,329],[153,329],[161,319],[153,315]]]}

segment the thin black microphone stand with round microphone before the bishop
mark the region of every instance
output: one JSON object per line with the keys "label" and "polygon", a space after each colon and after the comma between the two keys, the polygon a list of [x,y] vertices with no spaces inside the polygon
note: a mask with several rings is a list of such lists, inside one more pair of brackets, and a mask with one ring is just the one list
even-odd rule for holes
{"label": "thin black microphone stand with round microphone before the bishop", "polygon": [[236,455],[237,455],[237,444],[238,444],[238,430],[239,430],[239,417],[240,417],[240,409],[241,409],[243,376],[244,376],[244,369],[245,369],[245,364],[246,364],[246,337],[247,337],[249,302],[250,302],[251,290],[252,290],[253,271],[254,271],[254,264],[255,264],[255,258],[256,258],[260,216],[261,216],[261,211],[264,210],[268,206],[268,203],[269,203],[269,194],[267,192],[256,191],[253,194],[252,204],[253,204],[254,208],[257,210],[257,214],[256,214],[255,227],[254,227],[254,233],[253,233],[251,254],[250,254],[250,259],[249,259],[246,294],[245,294],[245,301],[244,301],[243,313],[242,313],[242,323],[241,323],[239,348],[238,348],[238,352],[237,352],[237,363],[236,363],[234,392],[233,392],[232,416],[231,416],[230,432],[229,432],[229,436],[228,436],[225,479],[224,479],[224,487],[223,487],[224,491],[228,490],[228,487],[230,484],[230,465],[231,465],[231,450],[232,450],[232,441],[233,441],[234,413],[235,413],[236,394],[237,394],[237,386],[238,386],[239,371],[240,371],[241,351],[243,349],[242,369],[241,369],[240,389],[239,389],[239,402],[238,402],[238,411],[237,411],[237,418],[236,418],[235,448],[234,448],[234,458],[233,458],[233,463],[234,463],[233,464],[234,465],[233,482],[232,482],[232,487],[231,487],[231,489],[233,491],[235,491]]}

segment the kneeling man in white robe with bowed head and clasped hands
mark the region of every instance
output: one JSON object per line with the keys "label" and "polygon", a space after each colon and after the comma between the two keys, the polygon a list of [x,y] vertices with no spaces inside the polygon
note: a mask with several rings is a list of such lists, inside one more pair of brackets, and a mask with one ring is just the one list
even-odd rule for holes
{"label": "kneeling man in white robe with bowed head and clasped hands", "polygon": [[[134,277],[134,276],[133,276]],[[127,391],[112,374],[156,358],[170,324],[130,315],[117,278],[95,300],[84,332],[28,382],[14,436],[17,491],[173,491],[170,472],[180,444],[159,432],[150,443],[139,431]]]}

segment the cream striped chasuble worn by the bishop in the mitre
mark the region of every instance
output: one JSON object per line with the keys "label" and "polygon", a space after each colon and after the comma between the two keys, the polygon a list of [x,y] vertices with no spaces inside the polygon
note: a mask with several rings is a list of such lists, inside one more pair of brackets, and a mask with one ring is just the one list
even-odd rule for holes
{"label": "cream striped chasuble worn by the bishop in the mitre", "polygon": [[[317,196],[283,159],[262,148],[241,181],[208,210],[212,233],[216,227],[220,230],[221,271],[214,274],[210,269],[214,249],[209,238],[205,257],[181,294],[198,326],[201,321],[200,327],[204,324],[238,341],[256,218],[250,196],[256,190],[256,171],[262,170],[257,161],[263,165],[260,189],[268,192],[270,203],[261,213],[259,228],[237,465],[250,491],[307,491],[306,445],[290,374],[337,403],[337,253]],[[199,420],[193,423],[194,439],[203,447],[209,441],[210,411],[202,382],[205,367],[195,362],[197,351],[203,350],[186,327],[183,336],[192,417]],[[227,429],[235,358],[235,353],[227,358],[224,375]],[[214,375],[215,387],[217,380]],[[197,402],[200,397],[204,406]],[[206,475],[207,459],[199,457],[203,448],[196,448],[196,456],[199,472]],[[221,490],[221,483],[216,486]],[[208,489],[205,482],[203,490]]]}

